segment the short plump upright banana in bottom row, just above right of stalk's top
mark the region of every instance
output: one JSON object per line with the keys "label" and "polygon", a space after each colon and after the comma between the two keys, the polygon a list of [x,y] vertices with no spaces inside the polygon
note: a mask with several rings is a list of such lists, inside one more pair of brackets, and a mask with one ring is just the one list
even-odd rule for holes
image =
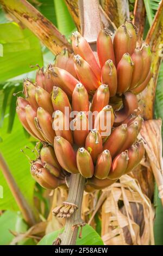
{"label": "short plump upright banana in bottom row, just above right of stalk's top", "polygon": [[84,178],[91,178],[94,173],[92,157],[85,148],[79,148],[77,151],[77,167],[79,173]]}

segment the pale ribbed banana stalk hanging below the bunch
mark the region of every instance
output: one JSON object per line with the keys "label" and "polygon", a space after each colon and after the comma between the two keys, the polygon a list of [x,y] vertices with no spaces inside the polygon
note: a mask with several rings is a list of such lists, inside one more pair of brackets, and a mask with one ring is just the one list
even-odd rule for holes
{"label": "pale ribbed banana stalk hanging below the bunch", "polygon": [[66,218],[65,229],[61,235],[61,245],[76,245],[78,229],[84,225],[81,218],[84,185],[85,178],[82,175],[71,174],[67,203],[75,202],[78,209]]}

